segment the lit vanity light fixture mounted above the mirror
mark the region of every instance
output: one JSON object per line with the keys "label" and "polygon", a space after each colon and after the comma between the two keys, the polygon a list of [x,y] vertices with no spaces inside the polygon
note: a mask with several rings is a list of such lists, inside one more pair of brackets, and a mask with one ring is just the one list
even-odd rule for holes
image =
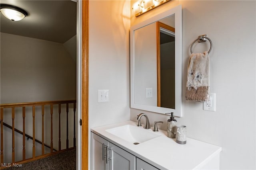
{"label": "lit vanity light fixture mounted above the mirror", "polygon": [[138,0],[132,6],[132,13],[138,17],[171,0]]}

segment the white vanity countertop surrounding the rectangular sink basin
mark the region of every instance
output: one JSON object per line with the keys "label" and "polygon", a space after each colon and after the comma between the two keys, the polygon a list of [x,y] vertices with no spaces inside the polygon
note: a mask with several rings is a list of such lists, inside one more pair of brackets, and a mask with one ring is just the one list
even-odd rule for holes
{"label": "white vanity countertop surrounding the rectangular sink basin", "polygon": [[[140,143],[139,145],[129,143],[106,131],[106,129],[123,125],[136,126],[137,122],[124,121],[111,125],[95,127],[92,128],[91,131],[161,170],[197,169],[197,167],[222,150],[219,146],[191,138],[187,138],[187,143],[185,145],[180,145],[176,143],[175,139],[167,137],[167,131],[158,129],[158,132],[153,132],[152,127],[151,129],[145,130],[157,133],[161,136]],[[143,128],[143,126],[144,125],[138,128]]]}

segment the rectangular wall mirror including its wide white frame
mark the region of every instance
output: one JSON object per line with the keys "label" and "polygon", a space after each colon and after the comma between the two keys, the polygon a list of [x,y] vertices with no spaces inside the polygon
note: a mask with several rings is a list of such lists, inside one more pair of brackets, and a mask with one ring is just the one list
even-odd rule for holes
{"label": "rectangular wall mirror including its wide white frame", "polygon": [[131,107],[182,116],[182,8],[131,27]]}

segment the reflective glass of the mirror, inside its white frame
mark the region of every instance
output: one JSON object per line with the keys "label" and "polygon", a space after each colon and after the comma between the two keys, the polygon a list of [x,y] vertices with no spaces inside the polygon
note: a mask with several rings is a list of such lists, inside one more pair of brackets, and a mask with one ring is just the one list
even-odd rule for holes
{"label": "reflective glass of the mirror, inside its white frame", "polygon": [[175,15],[134,30],[134,103],[175,109]]}

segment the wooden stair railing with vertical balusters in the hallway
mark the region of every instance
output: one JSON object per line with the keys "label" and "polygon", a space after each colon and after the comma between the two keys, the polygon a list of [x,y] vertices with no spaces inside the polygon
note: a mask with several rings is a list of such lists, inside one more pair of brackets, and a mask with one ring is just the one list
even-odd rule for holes
{"label": "wooden stair railing with vertical balusters in the hallway", "polygon": [[[60,114],[61,114],[61,106],[62,104],[66,105],[66,149],[61,149],[61,123],[60,123]],[[68,111],[69,111],[69,104],[73,104],[73,111],[74,111],[74,138],[73,138],[73,147],[76,147],[76,100],[60,100],[60,101],[48,101],[48,102],[29,102],[29,103],[16,103],[16,104],[1,104],[0,105],[0,140],[1,140],[1,146],[0,146],[0,162],[4,162],[4,139],[3,139],[3,126],[7,126],[8,128],[12,129],[12,163],[24,163],[29,162],[32,160],[36,160],[39,158],[43,158],[64,150],[72,149],[69,148],[68,145]],[[50,119],[51,119],[51,128],[50,128],[50,146],[46,145],[44,143],[44,107],[46,105],[50,105]],[[58,151],[55,151],[56,149],[53,148],[53,106],[58,105]],[[39,141],[35,138],[35,107],[41,106],[41,113],[42,113],[42,141]],[[15,108],[16,107],[22,107],[22,119],[23,119],[23,131],[18,130],[15,128],[14,125],[14,119],[15,119]],[[32,107],[32,127],[33,127],[33,135],[32,137],[25,133],[25,117],[26,117],[26,107]],[[4,123],[4,109],[6,108],[12,108],[11,114],[12,114],[12,125],[8,125]],[[15,135],[14,132],[21,133],[23,135],[23,148],[22,148],[22,160],[21,161],[15,161]],[[32,138],[33,144],[32,144],[32,158],[26,159],[26,147],[25,147],[25,138]],[[42,145],[42,154],[40,156],[36,156],[36,149],[35,149],[35,142],[38,142]],[[50,153],[45,154],[44,153],[44,147],[50,147]],[[55,151],[55,152],[53,152]],[[2,164],[1,164],[2,167]]]}

